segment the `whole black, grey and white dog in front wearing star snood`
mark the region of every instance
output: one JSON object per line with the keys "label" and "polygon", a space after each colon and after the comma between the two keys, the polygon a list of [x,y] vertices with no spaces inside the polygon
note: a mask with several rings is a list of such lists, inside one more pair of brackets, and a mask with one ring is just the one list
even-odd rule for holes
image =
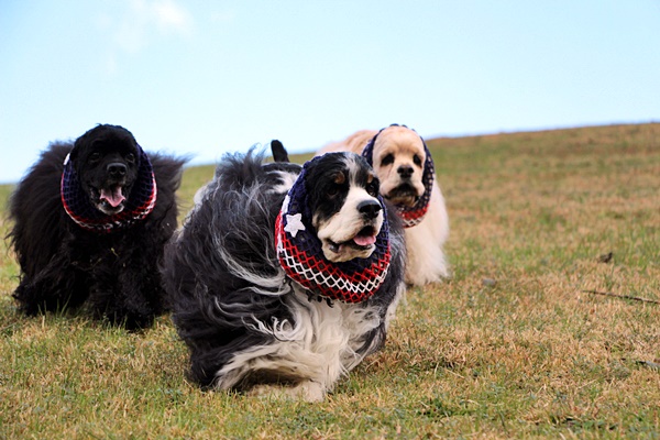
{"label": "whole black, grey and white dog in front wearing star snood", "polygon": [[204,388],[322,400],[385,341],[405,244],[352,153],[227,155],[166,248],[173,321]]}

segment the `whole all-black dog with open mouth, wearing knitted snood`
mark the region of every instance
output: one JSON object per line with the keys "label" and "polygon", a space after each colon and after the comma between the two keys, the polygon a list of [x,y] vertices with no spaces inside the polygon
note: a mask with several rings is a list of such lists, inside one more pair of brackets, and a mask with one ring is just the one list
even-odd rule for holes
{"label": "whole all-black dog with open mouth, wearing knitted snood", "polygon": [[20,309],[82,308],[128,329],[151,326],[165,309],[158,265],[184,163],[146,154],[119,125],[52,143],[10,198]]}

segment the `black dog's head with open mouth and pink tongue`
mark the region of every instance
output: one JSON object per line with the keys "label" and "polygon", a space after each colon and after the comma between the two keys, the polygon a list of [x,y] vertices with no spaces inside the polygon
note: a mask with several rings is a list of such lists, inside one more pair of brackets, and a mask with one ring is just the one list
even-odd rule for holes
{"label": "black dog's head with open mouth and pink tongue", "polygon": [[68,160],[91,205],[112,216],[125,208],[141,158],[141,148],[130,131],[119,125],[97,125],[76,140]]}

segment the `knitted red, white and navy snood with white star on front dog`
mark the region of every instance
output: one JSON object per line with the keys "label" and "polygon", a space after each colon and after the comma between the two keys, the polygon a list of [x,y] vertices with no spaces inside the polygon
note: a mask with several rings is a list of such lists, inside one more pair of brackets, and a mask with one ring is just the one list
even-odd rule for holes
{"label": "knitted red, white and navy snood with white star on front dog", "polygon": [[[275,221],[275,245],[279,264],[289,278],[322,297],[343,302],[362,302],[378,289],[389,268],[387,212],[383,210],[383,227],[376,235],[376,249],[369,258],[353,258],[341,263],[328,261],[323,255],[321,241],[311,226],[305,189],[306,168],[307,165],[286,195]],[[384,206],[380,196],[378,201]]]}

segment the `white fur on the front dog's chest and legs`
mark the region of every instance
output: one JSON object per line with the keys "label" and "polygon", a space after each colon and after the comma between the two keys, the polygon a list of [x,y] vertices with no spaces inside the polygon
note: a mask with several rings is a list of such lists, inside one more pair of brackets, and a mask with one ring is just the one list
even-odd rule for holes
{"label": "white fur on the front dog's chest and legs", "polygon": [[[403,290],[402,285],[391,306],[392,315]],[[319,402],[332,391],[341,375],[363,360],[364,356],[355,350],[361,345],[361,337],[380,324],[376,308],[340,301],[329,307],[324,301],[310,301],[306,292],[298,286],[295,295],[288,296],[287,300],[297,324],[294,327],[288,321],[249,322],[255,330],[275,337],[278,342],[237,353],[217,373],[218,388],[231,388],[248,371],[267,370],[285,377],[302,376],[308,380],[293,387],[261,385],[253,388],[253,394]],[[389,319],[386,319],[386,326],[388,324]]]}

